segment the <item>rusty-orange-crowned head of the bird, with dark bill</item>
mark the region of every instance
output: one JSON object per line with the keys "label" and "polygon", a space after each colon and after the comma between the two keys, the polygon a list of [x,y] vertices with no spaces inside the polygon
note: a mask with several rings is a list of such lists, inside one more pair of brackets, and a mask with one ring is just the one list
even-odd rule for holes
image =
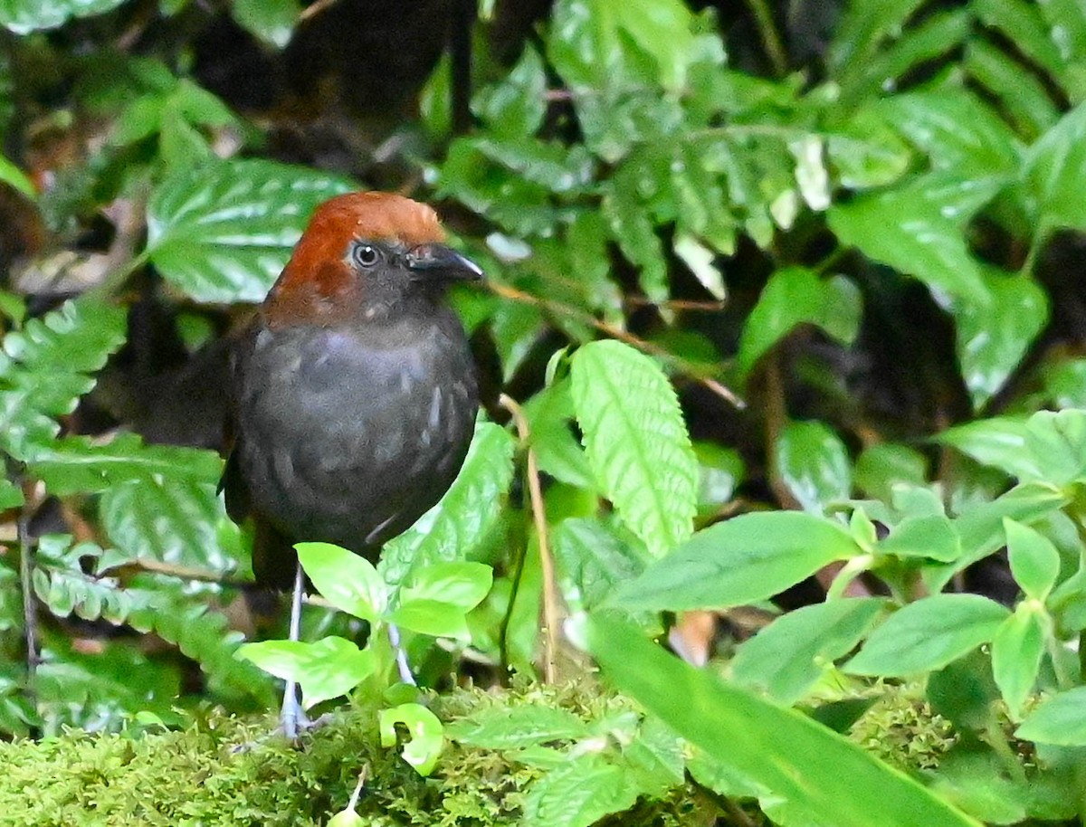
{"label": "rusty-orange-crowned head of the bird, with dark bill", "polygon": [[313,214],[264,302],[273,327],[376,320],[425,308],[452,281],[482,276],[447,246],[426,204],[387,192],[350,192]]}

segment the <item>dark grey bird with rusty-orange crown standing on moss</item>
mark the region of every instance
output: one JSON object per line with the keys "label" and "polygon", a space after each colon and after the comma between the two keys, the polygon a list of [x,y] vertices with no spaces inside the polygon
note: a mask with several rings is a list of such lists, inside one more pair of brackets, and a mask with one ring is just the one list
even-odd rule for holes
{"label": "dark grey bird with rusty-orange crown standing on moss", "polygon": [[[293,544],[375,562],[459,472],[479,390],[443,298],[481,277],[430,206],[350,192],[316,208],[239,336],[220,489],[230,518],[253,522],[257,585],[292,591],[292,640],[305,589]],[[295,691],[288,682],[280,717],[291,739],[305,723]]]}

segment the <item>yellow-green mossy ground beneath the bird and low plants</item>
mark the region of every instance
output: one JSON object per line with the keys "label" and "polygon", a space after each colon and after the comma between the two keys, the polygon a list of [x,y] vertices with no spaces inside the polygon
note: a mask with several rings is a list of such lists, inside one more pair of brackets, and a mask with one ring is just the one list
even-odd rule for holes
{"label": "yellow-green mossy ground beneath the bird and low plants", "polygon": [[[445,721],[481,707],[543,703],[586,720],[627,702],[596,685],[457,690],[431,699]],[[918,725],[921,723],[919,720]],[[369,767],[357,812],[377,827],[483,827],[520,820],[539,769],[501,752],[450,745],[420,778],[379,746],[371,710],[345,709],[303,736],[299,749],[268,736],[270,717],[212,714],[179,731],[87,734],[0,743],[0,827],[308,827],[325,825]],[[922,728],[922,726],[921,726]],[[239,750],[241,745],[252,745]],[[692,784],[662,801],[640,800],[604,823],[624,827],[710,825],[725,817]]]}

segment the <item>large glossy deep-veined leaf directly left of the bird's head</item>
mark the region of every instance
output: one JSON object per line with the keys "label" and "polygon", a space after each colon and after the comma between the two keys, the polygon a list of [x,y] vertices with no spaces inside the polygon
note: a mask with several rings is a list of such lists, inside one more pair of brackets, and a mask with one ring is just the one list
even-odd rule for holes
{"label": "large glossy deep-veined leaf directly left of the bird's head", "polygon": [[148,253],[198,302],[258,302],[318,204],[351,181],[268,161],[216,161],[167,177],[148,204]]}

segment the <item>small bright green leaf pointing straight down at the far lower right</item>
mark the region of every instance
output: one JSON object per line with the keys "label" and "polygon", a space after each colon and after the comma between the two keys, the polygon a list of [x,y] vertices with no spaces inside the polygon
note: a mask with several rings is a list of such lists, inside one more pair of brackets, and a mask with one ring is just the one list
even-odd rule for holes
{"label": "small bright green leaf pointing straight down at the far lower right", "polygon": [[1021,718],[1022,707],[1037,682],[1051,626],[1044,609],[1027,601],[1002,622],[992,640],[992,673],[1012,721]]}

